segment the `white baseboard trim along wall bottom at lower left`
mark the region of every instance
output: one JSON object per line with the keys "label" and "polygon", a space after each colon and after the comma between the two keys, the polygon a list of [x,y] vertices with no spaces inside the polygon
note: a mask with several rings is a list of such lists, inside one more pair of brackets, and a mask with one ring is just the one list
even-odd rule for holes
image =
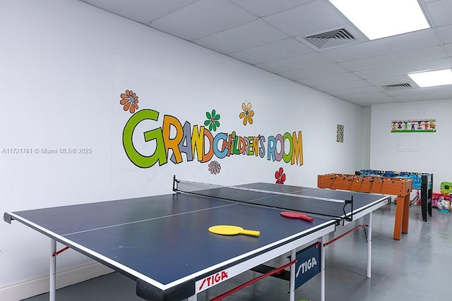
{"label": "white baseboard trim along wall bottom at lower left", "polygon": [[[57,272],[57,289],[112,273],[113,270],[100,263],[79,266],[76,269]],[[18,301],[49,292],[49,276],[35,278],[0,288],[0,300]]]}

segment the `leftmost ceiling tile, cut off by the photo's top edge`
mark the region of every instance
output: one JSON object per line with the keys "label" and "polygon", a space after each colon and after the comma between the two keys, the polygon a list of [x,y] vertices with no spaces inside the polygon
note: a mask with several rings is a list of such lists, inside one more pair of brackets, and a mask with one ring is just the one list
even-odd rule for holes
{"label": "leftmost ceiling tile, cut off by the photo's top edge", "polygon": [[198,0],[85,0],[85,2],[106,11],[141,23],[152,22],[196,1]]}

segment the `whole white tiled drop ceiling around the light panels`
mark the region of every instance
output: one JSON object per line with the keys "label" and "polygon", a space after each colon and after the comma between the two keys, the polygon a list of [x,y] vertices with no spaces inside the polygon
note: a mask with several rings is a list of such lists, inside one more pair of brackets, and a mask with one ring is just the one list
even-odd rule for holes
{"label": "whole white tiled drop ceiling around the light panels", "polygon": [[431,28],[372,41],[328,0],[80,1],[359,106],[452,100],[407,75],[452,67],[451,0],[419,0]]}

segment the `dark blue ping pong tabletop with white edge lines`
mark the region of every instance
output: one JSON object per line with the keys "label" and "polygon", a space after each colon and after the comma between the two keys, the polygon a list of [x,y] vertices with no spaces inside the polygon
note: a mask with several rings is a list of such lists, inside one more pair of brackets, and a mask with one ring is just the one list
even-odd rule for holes
{"label": "dark blue ping pong tabletop with white edge lines", "polygon": [[[354,213],[381,202],[382,195],[251,183],[242,188],[349,199]],[[310,199],[310,201],[315,201]],[[313,222],[287,219],[281,209],[184,193],[121,199],[5,213],[44,235],[137,281],[141,297],[183,299],[194,294],[194,281],[246,261],[300,237],[330,228],[337,220],[314,216]],[[258,230],[247,235],[215,235],[210,226],[228,224]],[[140,288],[138,288],[140,287]],[[151,297],[150,297],[151,296]]]}

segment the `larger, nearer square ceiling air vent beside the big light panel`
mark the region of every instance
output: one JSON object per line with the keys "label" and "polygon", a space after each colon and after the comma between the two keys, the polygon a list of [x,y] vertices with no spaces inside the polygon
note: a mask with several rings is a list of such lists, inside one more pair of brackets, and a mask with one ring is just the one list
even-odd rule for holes
{"label": "larger, nearer square ceiling air vent beside the big light panel", "polygon": [[310,35],[305,39],[317,49],[338,47],[356,42],[355,37],[345,28]]}

